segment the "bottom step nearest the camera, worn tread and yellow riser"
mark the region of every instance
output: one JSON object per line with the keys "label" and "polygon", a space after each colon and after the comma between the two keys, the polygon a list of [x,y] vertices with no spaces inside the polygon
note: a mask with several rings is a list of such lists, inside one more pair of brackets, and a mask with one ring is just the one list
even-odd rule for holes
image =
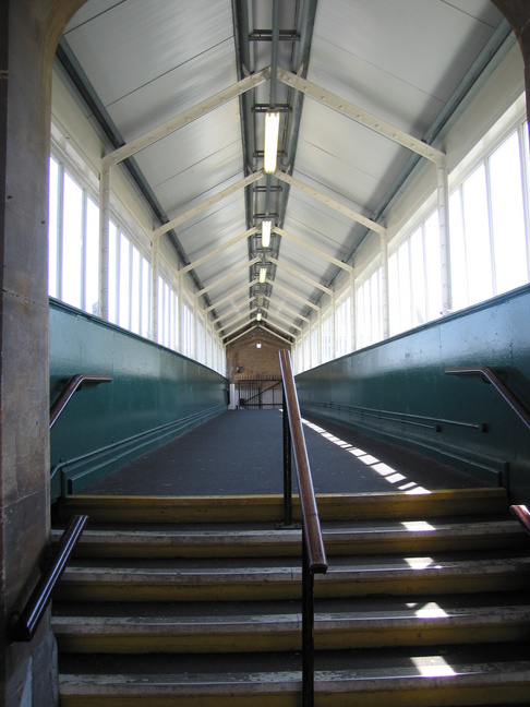
{"label": "bottom step nearest the camera, worn tread and yellow riser", "polygon": [[[528,705],[528,651],[516,646],[463,650],[341,651],[315,657],[315,706],[439,707]],[[182,657],[138,656],[97,662],[60,678],[61,707],[140,705],[149,707],[299,707],[300,657],[251,654]],[[75,666],[72,666],[74,668]],[[205,670],[207,667],[207,670]],[[93,672],[91,672],[93,671]]]}

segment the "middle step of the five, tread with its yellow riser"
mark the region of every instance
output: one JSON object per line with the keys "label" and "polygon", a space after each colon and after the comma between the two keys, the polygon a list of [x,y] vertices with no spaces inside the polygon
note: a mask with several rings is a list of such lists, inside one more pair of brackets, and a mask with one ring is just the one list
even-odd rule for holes
{"label": "middle step of the five, tread with its yellow riser", "polygon": [[[439,556],[338,556],[325,575],[315,576],[316,597],[466,594],[519,590],[530,584],[530,558],[507,552],[468,559]],[[67,601],[233,601],[297,599],[299,562],[272,558],[252,564],[231,561],[136,560],[70,564],[55,598]],[[88,561],[86,561],[88,563]]]}

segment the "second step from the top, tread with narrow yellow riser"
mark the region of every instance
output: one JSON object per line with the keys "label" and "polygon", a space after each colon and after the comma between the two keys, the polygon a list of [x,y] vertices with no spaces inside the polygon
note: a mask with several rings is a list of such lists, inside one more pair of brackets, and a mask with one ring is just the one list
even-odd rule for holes
{"label": "second step from the top, tread with narrow yellow riser", "polygon": [[[62,530],[52,531],[59,541]],[[513,518],[357,522],[348,527],[323,524],[328,556],[483,550],[529,547],[530,538]],[[83,558],[255,558],[301,556],[301,530],[274,527],[210,530],[149,529],[119,527],[86,529],[76,549]]]}

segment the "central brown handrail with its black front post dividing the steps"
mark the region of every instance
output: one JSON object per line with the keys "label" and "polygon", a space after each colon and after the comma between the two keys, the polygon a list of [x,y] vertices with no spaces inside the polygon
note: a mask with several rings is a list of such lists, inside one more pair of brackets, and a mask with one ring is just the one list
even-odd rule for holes
{"label": "central brown handrail with its black front post dividing the steps", "polygon": [[[290,432],[302,511],[302,707],[313,707],[314,574],[316,572],[326,572],[327,560],[303,435],[291,358],[287,350],[279,351],[279,357],[285,391],[284,415],[287,410],[288,418],[288,424],[284,423],[284,431],[288,429]],[[284,442],[284,448],[285,446],[286,443]],[[288,493],[290,493],[290,489],[285,490],[285,495]]]}

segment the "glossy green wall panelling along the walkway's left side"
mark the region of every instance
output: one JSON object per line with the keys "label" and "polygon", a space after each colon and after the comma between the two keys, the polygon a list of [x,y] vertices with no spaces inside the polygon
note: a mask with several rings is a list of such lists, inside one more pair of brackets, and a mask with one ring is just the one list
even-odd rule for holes
{"label": "glossy green wall panelling along the walkway's left side", "polygon": [[76,373],[112,381],[83,386],[51,429],[52,501],[227,407],[228,381],[212,369],[50,300],[50,405]]}

